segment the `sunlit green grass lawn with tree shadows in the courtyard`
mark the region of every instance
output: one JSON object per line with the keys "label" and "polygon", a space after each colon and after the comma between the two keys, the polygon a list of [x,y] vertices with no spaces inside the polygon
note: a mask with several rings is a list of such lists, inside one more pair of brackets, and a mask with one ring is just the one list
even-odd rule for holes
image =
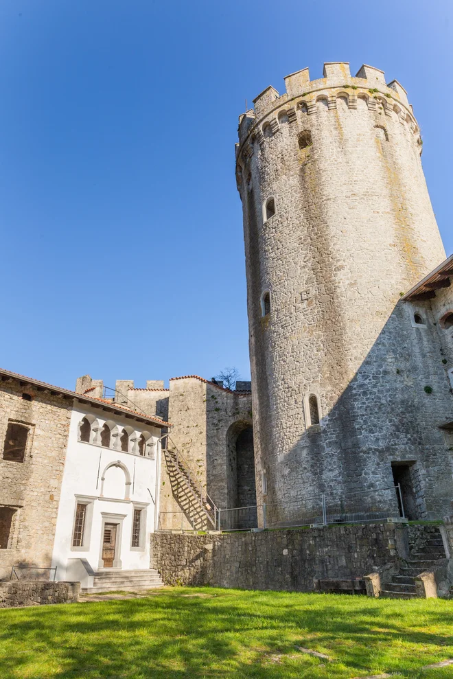
{"label": "sunlit green grass lawn with tree shadows in the courtyard", "polygon": [[[453,678],[453,601],[166,588],[0,610],[1,679]],[[297,646],[327,654],[330,661]]]}

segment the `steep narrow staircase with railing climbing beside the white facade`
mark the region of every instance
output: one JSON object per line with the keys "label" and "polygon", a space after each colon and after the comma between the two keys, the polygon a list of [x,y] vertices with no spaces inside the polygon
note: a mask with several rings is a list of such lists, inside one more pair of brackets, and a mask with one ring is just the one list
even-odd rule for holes
{"label": "steep narrow staircase with railing climbing beside the white facade", "polygon": [[[169,447],[170,444],[170,447]],[[172,493],[194,530],[216,530],[218,509],[170,437],[163,448]],[[175,527],[176,528],[176,527]]]}

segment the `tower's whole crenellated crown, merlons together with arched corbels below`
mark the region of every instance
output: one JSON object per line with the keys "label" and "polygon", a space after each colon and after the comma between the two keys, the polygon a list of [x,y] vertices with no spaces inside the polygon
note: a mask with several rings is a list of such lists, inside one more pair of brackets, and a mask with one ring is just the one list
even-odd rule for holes
{"label": "tower's whole crenellated crown, merlons together with arched corbels below", "polygon": [[316,115],[321,102],[328,111],[335,111],[338,98],[347,108],[356,111],[362,100],[369,111],[380,113],[384,119],[395,119],[414,135],[421,152],[419,126],[408,102],[406,90],[397,80],[386,83],[384,71],[362,65],[356,76],[351,76],[348,62],[326,62],[323,78],[310,80],[308,69],[290,73],[284,78],[286,92],[267,87],[254,100],[254,109],[239,117],[237,182],[242,183],[243,165],[253,154],[255,142],[262,146],[266,138],[279,132],[282,124],[302,123],[305,115]]}

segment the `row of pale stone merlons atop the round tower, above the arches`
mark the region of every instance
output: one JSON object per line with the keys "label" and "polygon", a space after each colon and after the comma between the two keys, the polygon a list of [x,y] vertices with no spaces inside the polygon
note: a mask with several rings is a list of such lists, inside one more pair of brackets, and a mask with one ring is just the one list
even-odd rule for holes
{"label": "row of pale stone merlons atop the round tower, above the arches", "polygon": [[[307,68],[295,73],[290,73],[284,78],[286,92],[279,95],[279,92],[272,87],[266,87],[253,100],[254,111],[247,111],[240,116],[240,137],[244,135],[252,118],[261,118],[275,106],[285,102],[290,102],[297,97],[307,97],[318,90],[343,88],[354,91],[377,91],[386,97],[391,97],[397,102],[401,102],[406,108],[409,107],[407,93],[404,87],[397,80],[392,80],[388,84],[384,77],[384,71],[366,64],[362,65],[356,76],[351,76],[349,62],[329,61],[325,62],[323,78],[310,80],[310,73]],[[248,125],[246,124],[248,122]],[[244,124],[245,123],[245,124]]]}

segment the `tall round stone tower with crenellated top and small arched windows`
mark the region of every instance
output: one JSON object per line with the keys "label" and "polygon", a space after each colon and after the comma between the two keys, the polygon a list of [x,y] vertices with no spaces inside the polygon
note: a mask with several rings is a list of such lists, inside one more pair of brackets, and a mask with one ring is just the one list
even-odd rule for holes
{"label": "tall round stone tower with crenellated top and small arched windows", "polygon": [[258,501],[392,487],[399,466],[413,515],[434,516],[453,498],[450,384],[399,301],[445,258],[419,126],[383,71],[323,75],[240,116]]}

